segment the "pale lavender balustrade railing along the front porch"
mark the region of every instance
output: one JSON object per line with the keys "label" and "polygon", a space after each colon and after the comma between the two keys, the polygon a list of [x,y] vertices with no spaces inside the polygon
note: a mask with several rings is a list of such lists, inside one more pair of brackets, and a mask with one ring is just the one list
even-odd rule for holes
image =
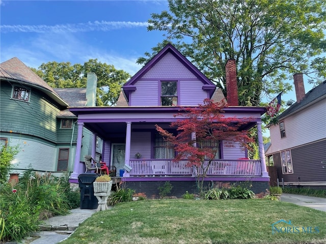
{"label": "pale lavender balustrade railing along the front porch", "polygon": [[[197,173],[194,172],[193,167],[188,167],[186,164],[186,160],[177,162],[170,159],[130,160],[130,176],[192,176]],[[261,175],[260,160],[214,160],[206,174],[207,176],[259,176]]]}

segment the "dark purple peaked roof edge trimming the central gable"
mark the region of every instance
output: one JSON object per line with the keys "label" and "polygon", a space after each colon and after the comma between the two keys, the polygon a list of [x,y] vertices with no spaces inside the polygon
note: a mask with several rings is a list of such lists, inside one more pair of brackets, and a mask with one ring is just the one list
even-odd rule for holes
{"label": "dark purple peaked roof edge trimming the central gable", "polygon": [[167,44],[162,48],[147,64],[140,69],[129,81],[123,86],[123,91],[128,98],[129,93],[135,90],[134,83],[137,82],[143,75],[145,75],[159,60],[167,53],[172,53],[181,64],[183,64],[189,71],[191,71],[200,81],[203,82],[203,89],[209,90],[210,97],[213,95],[216,85],[208,79],[201,71],[199,71],[185,56],[183,56],[172,44]]}

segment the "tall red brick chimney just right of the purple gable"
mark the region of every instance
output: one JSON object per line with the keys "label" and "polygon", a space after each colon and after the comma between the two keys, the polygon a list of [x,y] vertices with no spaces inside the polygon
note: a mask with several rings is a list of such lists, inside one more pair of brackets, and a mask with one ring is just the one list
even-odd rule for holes
{"label": "tall red brick chimney just right of the purple gable", "polygon": [[229,106],[239,106],[238,85],[236,82],[236,64],[235,59],[229,59],[225,65],[226,92]]}

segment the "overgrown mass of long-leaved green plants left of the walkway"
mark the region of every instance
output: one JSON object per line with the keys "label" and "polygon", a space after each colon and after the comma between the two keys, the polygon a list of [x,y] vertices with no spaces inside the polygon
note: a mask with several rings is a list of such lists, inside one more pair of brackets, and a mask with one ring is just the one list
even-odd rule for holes
{"label": "overgrown mass of long-leaved green plants left of the walkway", "polygon": [[41,175],[30,169],[24,172],[15,189],[10,184],[0,185],[2,240],[19,241],[37,231],[42,219],[66,215],[69,209],[79,206],[80,195],[70,189],[68,177]]}

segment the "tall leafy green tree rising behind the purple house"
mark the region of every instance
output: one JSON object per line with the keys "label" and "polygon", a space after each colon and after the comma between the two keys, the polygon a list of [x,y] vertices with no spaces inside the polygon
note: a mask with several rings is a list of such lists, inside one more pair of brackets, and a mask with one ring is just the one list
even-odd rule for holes
{"label": "tall leafy green tree rising behind the purple house", "polygon": [[173,42],[225,94],[225,64],[234,58],[240,105],[256,106],[262,96],[290,90],[286,80],[293,73],[316,83],[326,77],[326,57],[320,55],[326,50],[324,0],[168,2],[170,11],[153,13],[148,26],[166,39],[145,55]]}

